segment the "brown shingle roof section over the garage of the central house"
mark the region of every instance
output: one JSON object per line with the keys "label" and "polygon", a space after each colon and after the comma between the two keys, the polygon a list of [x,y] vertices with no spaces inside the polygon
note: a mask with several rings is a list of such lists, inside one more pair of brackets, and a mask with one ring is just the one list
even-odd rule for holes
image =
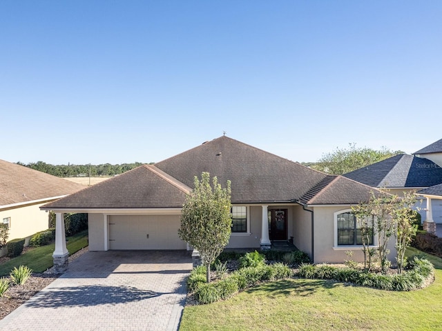
{"label": "brown shingle roof section over the garage of the central house", "polygon": [[189,190],[155,166],[140,165],[43,207],[44,209],[181,208]]}

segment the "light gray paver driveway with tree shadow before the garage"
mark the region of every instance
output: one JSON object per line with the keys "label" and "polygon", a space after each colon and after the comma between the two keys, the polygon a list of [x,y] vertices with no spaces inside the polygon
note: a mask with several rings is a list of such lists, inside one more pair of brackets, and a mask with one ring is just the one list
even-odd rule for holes
{"label": "light gray paver driveway with tree shadow before the garage", "polygon": [[0,330],[177,330],[191,268],[185,251],[86,252]]}

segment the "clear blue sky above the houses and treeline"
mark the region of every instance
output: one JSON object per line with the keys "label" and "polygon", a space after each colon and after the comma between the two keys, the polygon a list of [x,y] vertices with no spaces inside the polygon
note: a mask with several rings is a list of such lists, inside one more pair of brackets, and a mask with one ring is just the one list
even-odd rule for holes
{"label": "clear blue sky above the houses and treeline", "polygon": [[442,1],[0,1],[0,159],[292,161],[442,138]]}

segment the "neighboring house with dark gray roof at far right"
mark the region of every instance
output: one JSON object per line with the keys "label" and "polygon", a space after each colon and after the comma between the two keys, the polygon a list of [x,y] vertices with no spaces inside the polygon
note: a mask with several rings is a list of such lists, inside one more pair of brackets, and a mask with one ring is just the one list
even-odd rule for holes
{"label": "neighboring house with dark gray roof at far right", "polygon": [[432,186],[442,183],[442,139],[414,155],[396,155],[343,176],[373,188],[385,188],[399,196],[405,191],[417,191],[422,199],[416,207],[420,209],[424,225],[425,221],[442,223],[442,200],[421,194],[432,192]]}

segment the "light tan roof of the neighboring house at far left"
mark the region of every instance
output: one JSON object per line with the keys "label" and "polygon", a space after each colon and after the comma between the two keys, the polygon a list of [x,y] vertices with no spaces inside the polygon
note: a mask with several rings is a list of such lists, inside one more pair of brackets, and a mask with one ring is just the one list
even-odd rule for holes
{"label": "light tan roof of the neighboring house at far left", "polygon": [[61,197],[84,185],[0,160],[0,206]]}

